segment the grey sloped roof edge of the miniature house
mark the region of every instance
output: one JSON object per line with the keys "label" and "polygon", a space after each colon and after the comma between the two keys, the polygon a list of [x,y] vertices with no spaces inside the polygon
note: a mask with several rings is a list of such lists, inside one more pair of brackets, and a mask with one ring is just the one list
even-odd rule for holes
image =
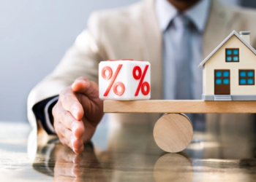
{"label": "grey sloped roof edge of the miniature house", "polygon": [[253,53],[255,53],[255,55],[256,55],[256,50],[255,50],[250,44],[248,44],[243,38],[241,38],[241,36],[240,36],[236,31],[233,31],[232,33],[230,33],[229,36],[227,36],[227,38],[226,38],[224,41],[222,41],[221,44],[219,44],[218,47],[216,47],[216,49],[215,49],[213,52],[211,52],[210,55],[208,55],[208,56],[206,57],[206,59],[204,59],[204,60],[199,64],[199,66],[203,66],[203,65],[207,62],[207,60],[209,60],[209,59],[211,58],[211,56],[214,55],[215,52],[217,52],[217,51],[219,50],[219,48],[222,47],[222,45],[225,44],[225,43],[231,38],[231,36],[236,36],[241,42],[243,42],[243,43],[246,45],[246,47],[249,48],[249,50],[251,50],[251,51],[252,51]]}

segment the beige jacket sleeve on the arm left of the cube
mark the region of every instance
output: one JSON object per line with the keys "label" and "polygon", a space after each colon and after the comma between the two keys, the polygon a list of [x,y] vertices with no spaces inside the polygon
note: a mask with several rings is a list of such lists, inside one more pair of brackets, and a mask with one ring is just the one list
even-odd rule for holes
{"label": "beige jacket sleeve on the arm left of the cube", "polygon": [[107,59],[101,43],[101,29],[101,15],[99,12],[94,12],[89,17],[88,28],[80,33],[59,65],[31,90],[27,111],[32,127],[40,129],[43,125],[40,122],[44,122],[39,118],[39,115],[43,115],[42,103],[37,105],[41,106],[40,109],[37,109],[37,114],[35,115],[33,112],[32,108],[37,103],[59,95],[64,87],[71,85],[79,76],[85,76],[91,81],[98,82],[98,64],[101,60]]}

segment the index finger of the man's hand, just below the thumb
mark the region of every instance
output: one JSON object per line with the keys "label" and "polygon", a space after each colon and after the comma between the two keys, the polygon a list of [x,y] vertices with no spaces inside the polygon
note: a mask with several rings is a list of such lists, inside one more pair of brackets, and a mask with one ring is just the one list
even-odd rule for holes
{"label": "index finger of the man's hand, just below the thumb", "polygon": [[77,95],[75,95],[71,87],[67,87],[67,89],[61,91],[59,99],[63,108],[72,113],[75,119],[82,119],[83,106],[80,104]]}

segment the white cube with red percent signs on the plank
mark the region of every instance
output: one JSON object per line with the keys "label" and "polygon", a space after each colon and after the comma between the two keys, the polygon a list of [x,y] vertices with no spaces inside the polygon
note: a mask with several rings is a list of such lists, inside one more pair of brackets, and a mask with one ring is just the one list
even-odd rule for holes
{"label": "white cube with red percent signs on the plank", "polygon": [[108,60],[99,63],[99,98],[102,100],[148,100],[150,63]]}

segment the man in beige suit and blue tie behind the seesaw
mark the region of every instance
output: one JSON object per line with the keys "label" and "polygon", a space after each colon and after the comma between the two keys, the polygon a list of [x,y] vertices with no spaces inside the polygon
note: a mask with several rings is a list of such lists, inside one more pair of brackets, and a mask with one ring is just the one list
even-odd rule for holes
{"label": "man in beige suit and blue tie behind the seesaw", "polygon": [[[197,65],[231,31],[254,31],[255,15],[217,0],[144,0],[95,12],[59,66],[31,91],[29,122],[48,134],[56,132],[75,153],[83,151],[83,143],[91,140],[103,116],[97,75],[99,62],[108,59],[149,61],[151,99],[200,99],[202,73]],[[121,123],[155,122],[159,115],[110,117]]]}

